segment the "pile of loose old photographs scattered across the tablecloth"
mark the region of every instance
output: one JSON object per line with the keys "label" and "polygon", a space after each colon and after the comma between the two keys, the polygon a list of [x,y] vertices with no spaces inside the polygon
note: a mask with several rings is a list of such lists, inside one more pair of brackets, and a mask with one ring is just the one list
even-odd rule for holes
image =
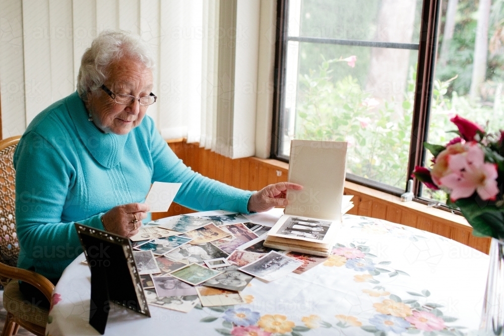
{"label": "pile of loose old photographs scattered across the tablecloth", "polygon": [[255,277],[275,281],[327,259],[264,247],[274,224],[257,215],[212,211],[142,226],[130,239],[148,303],[181,312],[198,304],[244,304],[241,292]]}

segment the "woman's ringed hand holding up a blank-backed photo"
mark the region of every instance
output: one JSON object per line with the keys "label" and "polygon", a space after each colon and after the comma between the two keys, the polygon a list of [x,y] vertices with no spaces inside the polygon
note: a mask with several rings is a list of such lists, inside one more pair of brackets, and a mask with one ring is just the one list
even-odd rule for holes
{"label": "woman's ringed hand holding up a blank-backed photo", "polygon": [[105,230],[124,237],[138,233],[142,220],[147,218],[150,207],[143,203],[130,203],[107,211],[101,218]]}

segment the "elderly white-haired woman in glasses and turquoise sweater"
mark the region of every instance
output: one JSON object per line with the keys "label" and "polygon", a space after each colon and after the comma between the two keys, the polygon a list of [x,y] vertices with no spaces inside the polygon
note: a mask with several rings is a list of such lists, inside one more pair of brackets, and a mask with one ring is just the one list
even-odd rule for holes
{"label": "elderly white-haired woman in glasses and turquoise sweater", "polygon": [[[147,44],[123,31],[101,33],[82,57],[77,92],[38,114],[14,155],[18,266],[56,283],[79,254],[74,222],[122,236],[138,233],[154,181],[180,182],[175,201],[198,211],[249,213],[287,205],[290,183],[258,192],[186,167],[146,115],[155,103]],[[28,297],[37,297],[21,284]]]}

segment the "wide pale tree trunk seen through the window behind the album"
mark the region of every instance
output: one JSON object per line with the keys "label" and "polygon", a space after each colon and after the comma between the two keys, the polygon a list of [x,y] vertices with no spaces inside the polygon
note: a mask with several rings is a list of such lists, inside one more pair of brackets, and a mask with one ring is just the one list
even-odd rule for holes
{"label": "wide pale tree trunk seen through the window behind the album", "polygon": [[[415,8],[416,0],[383,0],[375,40],[411,43]],[[366,89],[374,98],[395,99],[400,110],[408,78],[409,54],[407,49],[371,49]]]}

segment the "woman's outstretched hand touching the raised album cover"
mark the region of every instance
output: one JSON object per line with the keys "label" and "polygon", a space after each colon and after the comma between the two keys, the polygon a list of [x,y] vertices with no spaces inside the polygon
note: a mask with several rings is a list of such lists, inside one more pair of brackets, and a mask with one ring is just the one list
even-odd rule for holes
{"label": "woman's outstretched hand touching the raised album cover", "polygon": [[250,196],[248,211],[263,212],[275,207],[284,207],[289,204],[289,201],[285,199],[287,190],[301,190],[302,188],[301,185],[290,182],[270,184]]}

